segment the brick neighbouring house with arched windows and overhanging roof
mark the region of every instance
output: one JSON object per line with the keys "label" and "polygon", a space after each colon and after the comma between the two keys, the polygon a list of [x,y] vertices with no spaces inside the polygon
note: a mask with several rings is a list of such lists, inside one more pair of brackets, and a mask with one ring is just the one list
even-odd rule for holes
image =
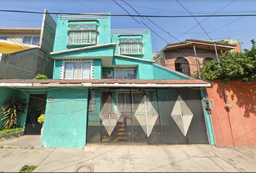
{"label": "brick neighbouring house with arched windows and overhanging roof", "polygon": [[[240,48],[240,46],[236,46],[238,41],[233,41],[232,44],[228,42],[228,40],[222,40],[221,42],[216,43],[218,58],[221,56],[221,51],[239,51],[239,49],[236,49],[236,47]],[[161,66],[191,76],[197,74],[197,65],[200,70],[203,64],[217,58],[216,50],[213,42],[189,39],[184,40],[184,42],[181,43],[166,45],[166,47],[163,48],[158,55],[155,55],[153,59],[155,60],[155,63]],[[197,56],[197,61],[195,55]]]}

